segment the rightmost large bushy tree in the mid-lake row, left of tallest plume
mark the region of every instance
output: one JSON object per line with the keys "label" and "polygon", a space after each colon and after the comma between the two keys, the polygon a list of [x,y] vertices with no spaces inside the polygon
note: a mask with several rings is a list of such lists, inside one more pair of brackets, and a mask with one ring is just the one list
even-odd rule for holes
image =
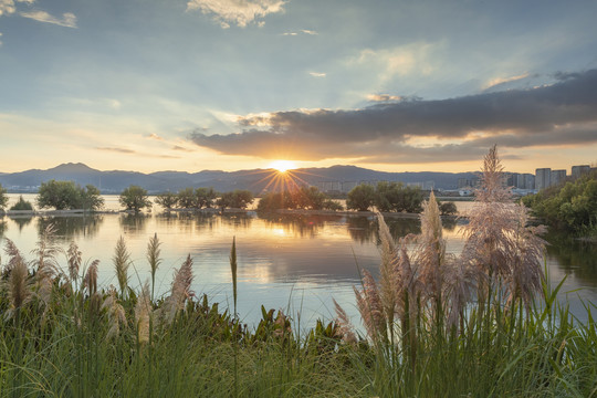
{"label": "rightmost large bushy tree in the mid-lake row, left of tallest plume", "polygon": [[420,212],[422,199],[419,187],[405,187],[402,182],[378,182],[374,205],[384,212]]}

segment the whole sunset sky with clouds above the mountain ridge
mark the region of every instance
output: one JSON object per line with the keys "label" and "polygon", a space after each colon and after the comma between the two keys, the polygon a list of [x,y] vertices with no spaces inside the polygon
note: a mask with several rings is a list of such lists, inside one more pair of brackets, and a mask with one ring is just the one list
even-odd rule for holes
{"label": "whole sunset sky with clouds above the mountain ridge", "polygon": [[597,163],[597,1],[0,0],[0,172]]}

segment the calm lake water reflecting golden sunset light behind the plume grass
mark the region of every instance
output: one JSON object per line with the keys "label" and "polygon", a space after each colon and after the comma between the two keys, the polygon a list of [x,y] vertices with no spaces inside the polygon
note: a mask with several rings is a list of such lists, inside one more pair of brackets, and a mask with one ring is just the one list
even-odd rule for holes
{"label": "calm lake water reflecting golden sunset light behind the plume grass", "polygon": [[[108,209],[118,209],[116,196],[105,198]],[[25,196],[25,199],[33,201],[34,196]],[[14,200],[11,199],[11,203]],[[470,206],[467,202],[457,205],[461,210]],[[318,317],[331,320],[334,316],[332,297],[357,321],[353,286],[359,284],[358,268],[375,274],[379,264],[374,218],[259,218],[252,212],[166,216],[157,210],[140,217],[4,217],[0,219],[0,237],[13,240],[28,256],[40,231],[54,223],[56,239],[64,248],[74,240],[84,259],[101,260],[101,283],[108,286],[117,284],[112,255],[116,240],[123,235],[134,264],[130,285],[138,286],[149,277],[145,252],[149,238],[157,233],[163,242],[164,259],[156,276],[158,291],[168,291],[172,270],[190,254],[196,275],[195,292],[207,293],[210,301],[220,302],[224,307],[232,297],[229,254],[232,237],[235,237],[239,313],[250,324],[259,321],[261,304],[266,308],[284,308],[295,321],[300,316],[303,325],[312,325]],[[388,219],[387,223],[395,237],[420,232],[418,220]],[[449,251],[460,252],[462,248],[460,228],[455,222],[444,226]],[[597,303],[596,244],[563,241],[557,237],[548,237],[548,240],[552,244],[546,262],[553,283],[557,284],[568,275],[562,297],[567,296],[573,312],[582,316],[578,297]]]}

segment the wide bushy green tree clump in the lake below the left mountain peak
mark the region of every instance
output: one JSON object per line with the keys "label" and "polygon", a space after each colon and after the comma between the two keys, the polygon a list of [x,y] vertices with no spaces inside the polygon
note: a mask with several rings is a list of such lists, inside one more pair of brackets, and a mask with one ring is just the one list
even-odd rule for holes
{"label": "wide bushy green tree clump in the lake below the left mountain peak", "polygon": [[100,210],[104,206],[104,199],[96,187],[87,185],[83,188],[73,181],[56,180],[42,182],[36,202],[41,209],[55,208],[56,210]]}

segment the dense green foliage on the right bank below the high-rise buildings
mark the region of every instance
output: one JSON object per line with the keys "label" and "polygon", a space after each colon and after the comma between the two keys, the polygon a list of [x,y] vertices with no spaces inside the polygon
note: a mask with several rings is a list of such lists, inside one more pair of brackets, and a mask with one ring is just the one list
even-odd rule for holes
{"label": "dense green foliage on the right bank below the high-rise buildings", "polygon": [[597,233],[597,171],[522,200],[535,216],[558,229],[578,234]]}

